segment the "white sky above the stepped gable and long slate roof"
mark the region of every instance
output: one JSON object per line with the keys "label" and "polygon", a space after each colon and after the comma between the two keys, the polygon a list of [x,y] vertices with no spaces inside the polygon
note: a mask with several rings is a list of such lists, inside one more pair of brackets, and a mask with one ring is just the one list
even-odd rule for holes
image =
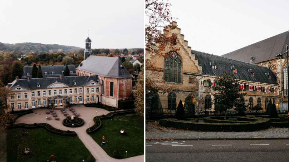
{"label": "white sky above the stepped gable and long slate roof", "polygon": [[288,0],[168,2],[188,46],[200,52],[223,55],[289,29]]}

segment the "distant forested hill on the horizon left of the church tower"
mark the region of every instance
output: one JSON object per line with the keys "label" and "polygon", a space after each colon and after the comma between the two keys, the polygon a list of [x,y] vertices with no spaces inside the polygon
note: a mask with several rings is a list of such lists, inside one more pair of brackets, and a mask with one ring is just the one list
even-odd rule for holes
{"label": "distant forested hill on the horizon left of the church tower", "polygon": [[0,51],[2,52],[18,51],[22,53],[30,53],[30,52],[39,53],[40,51],[45,51],[48,53],[48,52],[71,52],[71,51],[78,51],[80,49],[82,48],[75,46],[64,46],[59,44],[41,44],[41,43],[28,43],[28,42],[8,44],[0,42]]}

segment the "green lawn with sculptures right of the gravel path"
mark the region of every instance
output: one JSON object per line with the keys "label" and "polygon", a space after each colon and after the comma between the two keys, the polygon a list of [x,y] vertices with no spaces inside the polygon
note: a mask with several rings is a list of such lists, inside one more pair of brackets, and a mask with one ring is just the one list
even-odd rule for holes
{"label": "green lawn with sculptures right of the gravel path", "polygon": [[[102,127],[90,136],[101,146],[103,150],[113,157],[113,152],[118,149],[120,158],[144,154],[144,117],[135,114],[116,115],[111,119],[102,121]],[[120,134],[125,130],[125,135]],[[107,145],[101,145],[102,136],[105,136]],[[125,157],[127,151],[127,157]]]}

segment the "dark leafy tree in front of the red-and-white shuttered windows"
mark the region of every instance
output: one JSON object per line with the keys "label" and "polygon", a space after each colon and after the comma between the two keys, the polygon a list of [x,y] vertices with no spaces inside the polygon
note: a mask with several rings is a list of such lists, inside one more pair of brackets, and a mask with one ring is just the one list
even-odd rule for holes
{"label": "dark leafy tree in front of the red-and-white shuttered windows", "polygon": [[242,105],[242,97],[247,93],[240,93],[244,90],[240,88],[239,84],[242,84],[242,82],[240,77],[235,76],[235,74],[224,71],[221,77],[218,76],[216,86],[212,86],[214,91],[220,92],[213,94],[214,98],[218,99],[218,102],[215,101],[214,104],[219,106],[217,109],[215,106],[215,110],[223,111]]}

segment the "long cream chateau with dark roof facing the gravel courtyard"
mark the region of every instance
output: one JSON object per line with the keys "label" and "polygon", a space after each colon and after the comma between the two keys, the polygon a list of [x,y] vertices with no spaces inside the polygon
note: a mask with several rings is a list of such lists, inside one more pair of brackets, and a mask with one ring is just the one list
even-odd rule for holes
{"label": "long cream chateau with dark roof facing the gravel courtyard", "polygon": [[[28,110],[37,107],[64,106],[73,104],[96,103],[101,100],[101,84],[97,76],[66,76],[50,78],[16,78],[8,84],[15,96],[7,99],[14,110]],[[11,111],[11,110],[8,110]]]}

